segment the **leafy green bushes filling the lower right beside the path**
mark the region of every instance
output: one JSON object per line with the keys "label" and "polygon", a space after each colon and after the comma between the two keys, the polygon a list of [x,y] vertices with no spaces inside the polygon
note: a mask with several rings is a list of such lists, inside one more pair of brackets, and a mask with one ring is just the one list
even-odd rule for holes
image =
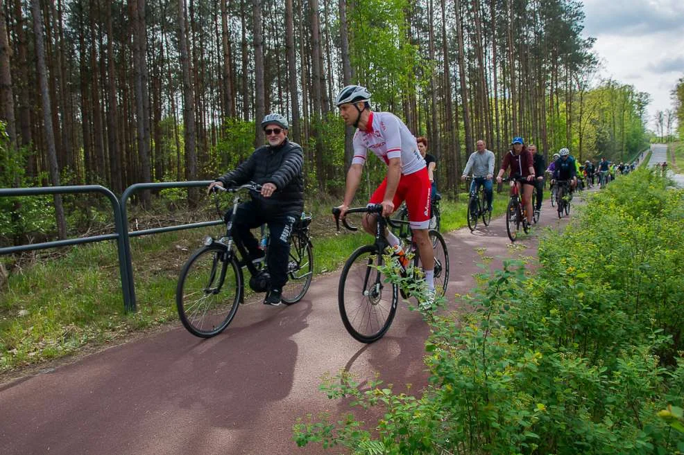
{"label": "leafy green bushes filling the lower right beside the path", "polygon": [[382,417],[311,413],[294,426],[298,445],[355,455],[683,453],[684,192],[667,184],[643,169],[618,179],[562,234],[547,233],[534,274],[508,260],[477,277],[458,314],[427,316],[420,394],[346,371],[326,377],[329,398]]}

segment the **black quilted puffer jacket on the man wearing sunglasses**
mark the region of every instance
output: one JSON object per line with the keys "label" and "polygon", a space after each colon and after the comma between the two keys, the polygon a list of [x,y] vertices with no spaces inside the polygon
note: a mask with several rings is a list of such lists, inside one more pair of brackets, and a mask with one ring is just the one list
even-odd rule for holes
{"label": "black quilted puffer jacket on the man wearing sunglasses", "polygon": [[263,197],[252,191],[252,199],[265,211],[299,215],[304,209],[303,165],[301,146],[285,139],[275,148],[271,145],[257,148],[247,161],[216,181],[223,183],[223,186],[241,185],[248,181],[261,185],[270,182],[277,188],[271,197]]}

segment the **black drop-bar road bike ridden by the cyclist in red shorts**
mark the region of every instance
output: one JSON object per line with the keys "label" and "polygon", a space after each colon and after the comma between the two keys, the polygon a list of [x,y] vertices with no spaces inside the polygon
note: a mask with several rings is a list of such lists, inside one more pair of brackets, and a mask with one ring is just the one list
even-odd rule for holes
{"label": "black drop-bar road bike ridden by the cyclist in red shorts", "polygon": [[[340,211],[333,208],[335,222],[339,231]],[[400,256],[389,253],[391,247],[385,238],[385,229],[393,226],[401,229],[402,225],[409,226],[409,222],[392,220],[389,217],[382,217],[382,205],[369,204],[366,207],[350,208],[342,224],[350,231],[357,231],[357,227],[348,224],[347,215],[353,213],[373,213],[377,214],[377,226],[375,229],[375,240],[371,244],[366,244],[357,248],[349,256],[342,269],[339,287],[337,289],[337,301],[340,316],[345,329],[354,339],[361,343],[373,343],[382,338],[392,324],[400,294],[407,296],[411,292],[402,289],[397,283],[392,283],[382,271],[385,265],[385,258],[391,258],[391,267],[407,281],[418,283],[418,267],[420,267],[420,255],[418,254],[415,243],[408,235],[400,237],[407,246],[404,251],[409,251],[407,256]],[[443,296],[449,283],[449,251],[441,233],[431,229],[428,235],[434,247],[434,283],[436,296]],[[410,258],[413,254],[413,258]],[[402,292],[403,291],[403,292]]]}

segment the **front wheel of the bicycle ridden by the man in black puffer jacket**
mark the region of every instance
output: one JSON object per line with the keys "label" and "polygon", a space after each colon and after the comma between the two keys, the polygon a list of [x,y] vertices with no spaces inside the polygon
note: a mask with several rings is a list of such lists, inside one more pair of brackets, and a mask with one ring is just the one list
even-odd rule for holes
{"label": "front wheel of the bicycle ridden by the man in black puffer jacket", "polygon": [[235,258],[222,247],[198,249],[178,278],[180,321],[196,337],[213,337],[232,321],[241,293],[242,275]]}

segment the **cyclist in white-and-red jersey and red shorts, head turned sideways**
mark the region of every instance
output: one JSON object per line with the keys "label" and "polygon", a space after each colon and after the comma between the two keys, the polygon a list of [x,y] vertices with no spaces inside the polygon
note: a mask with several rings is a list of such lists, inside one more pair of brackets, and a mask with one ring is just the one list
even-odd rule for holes
{"label": "cyclist in white-and-red jersey and red shorts, head turned sideways", "polygon": [[[359,188],[366,154],[371,150],[387,164],[388,170],[368,203],[382,204],[382,216],[388,216],[406,201],[413,240],[418,245],[425,270],[425,281],[434,294],[434,251],[427,233],[431,188],[425,160],[420,156],[416,138],[409,128],[394,114],[371,111],[369,100],[370,92],[365,87],[348,85],[335,101],[345,123],[357,128],[354,159],[347,172],[344,202],[339,206],[341,217],[344,217]],[[376,222],[375,215],[364,217],[364,229],[375,235]],[[392,247],[400,247],[399,239],[389,230],[385,237]]]}

